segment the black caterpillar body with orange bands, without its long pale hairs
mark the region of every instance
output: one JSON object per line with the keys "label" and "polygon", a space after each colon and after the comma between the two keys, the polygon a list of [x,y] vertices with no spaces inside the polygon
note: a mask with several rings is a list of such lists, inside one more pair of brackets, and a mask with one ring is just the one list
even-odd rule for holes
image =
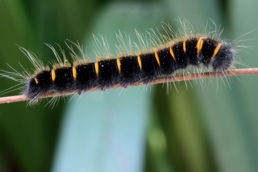
{"label": "black caterpillar body with orange bands, without its long pale hairs", "polygon": [[161,76],[172,75],[190,64],[198,67],[202,63],[214,71],[224,72],[233,60],[230,44],[215,38],[192,37],[155,52],[41,70],[29,79],[25,93],[31,100],[37,100],[39,95],[52,90],[77,90],[82,94],[94,87],[102,90],[116,84],[127,87],[135,82],[149,83]]}

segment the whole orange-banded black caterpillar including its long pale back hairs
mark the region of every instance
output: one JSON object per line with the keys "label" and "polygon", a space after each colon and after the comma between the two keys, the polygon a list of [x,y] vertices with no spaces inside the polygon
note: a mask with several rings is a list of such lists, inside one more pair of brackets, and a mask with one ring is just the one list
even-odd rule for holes
{"label": "whole orange-banded black caterpillar including its long pale back hairs", "polygon": [[[215,26],[215,31],[194,34],[188,21],[181,24],[183,31],[179,33],[175,32],[169,24],[163,27],[166,34],[158,31],[159,36],[153,29],[146,30],[145,35],[136,31],[140,42],[139,45],[134,43],[138,49],[137,54],[132,50],[130,37],[126,35],[124,39],[119,31],[116,34],[120,43],[117,46],[117,58],[109,52],[107,41],[102,35],[100,36],[102,45],[101,41],[93,35],[97,48],[95,62],[89,60],[79,43],[73,44],[82,54],[82,59],[75,53],[72,46],[66,43],[71,50],[73,65],[68,63],[63,50],[61,50],[64,59],[62,61],[53,46],[47,44],[57,59],[57,62],[52,62],[51,70],[48,66],[44,66],[35,54],[19,47],[36,67],[35,74],[31,75],[27,69],[24,69],[22,73],[4,71],[5,73],[1,75],[25,84],[20,88],[24,90],[23,94],[30,98],[31,105],[51,91],[62,93],[72,90],[80,95],[95,87],[104,91],[118,84],[124,88],[136,82],[148,84],[162,76],[171,76],[176,71],[185,70],[190,65],[197,68],[204,65],[215,72],[225,72],[232,67],[237,46],[220,39],[222,32],[219,31],[220,29]],[[235,44],[238,42],[235,41]]]}

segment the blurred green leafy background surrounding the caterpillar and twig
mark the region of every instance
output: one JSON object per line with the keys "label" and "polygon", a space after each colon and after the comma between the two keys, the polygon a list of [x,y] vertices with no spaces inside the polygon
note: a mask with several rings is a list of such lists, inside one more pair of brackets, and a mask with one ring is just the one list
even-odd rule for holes
{"label": "blurred green leafy background surrounding the caterpillar and twig", "polygon": [[[10,71],[8,63],[22,71],[20,62],[33,71],[15,44],[49,64],[54,55],[43,43],[58,43],[68,54],[69,39],[95,60],[92,33],[106,35],[115,54],[119,29],[138,42],[134,28],[161,30],[162,21],[177,30],[178,17],[197,32],[211,18],[231,41],[258,27],[257,9],[257,0],[1,0],[1,69]],[[243,39],[252,38],[258,31]],[[257,67],[257,39],[242,43],[253,48],[241,60]],[[0,83],[0,90],[17,84]],[[232,77],[230,87],[220,78],[191,84],[175,83],[168,96],[162,84],[87,93],[52,110],[47,100],[1,104],[0,171],[257,171],[258,76]]]}

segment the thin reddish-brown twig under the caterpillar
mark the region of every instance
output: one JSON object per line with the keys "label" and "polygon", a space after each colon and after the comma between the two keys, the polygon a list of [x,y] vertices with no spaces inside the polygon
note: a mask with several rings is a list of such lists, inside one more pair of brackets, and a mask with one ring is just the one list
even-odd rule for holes
{"label": "thin reddish-brown twig under the caterpillar", "polygon": [[[237,75],[254,75],[258,74],[258,68],[247,68],[247,69],[233,69],[229,70],[227,72],[205,72],[205,73],[199,73],[198,75],[196,73],[188,74],[188,75],[175,75],[173,77],[169,77],[166,79],[167,82],[175,82],[175,81],[182,81],[182,80],[195,80],[195,79],[203,79],[203,78],[214,78],[214,77],[225,77],[225,76],[237,76]],[[164,83],[164,77],[158,78],[151,82],[150,84],[159,84]],[[134,84],[131,84],[130,86],[140,86],[140,85],[146,85],[142,82],[137,82]],[[109,87],[107,89],[112,88],[121,88],[121,85],[116,85]],[[100,88],[93,88],[90,90],[86,90],[85,92],[91,92],[91,91],[97,91],[100,90]],[[50,92],[42,95],[40,98],[47,98],[47,97],[53,97],[53,96],[65,96],[69,94],[74,94],[74,90],[70,90],[67,92],[57,93],[57,92]],[[11,103],[11,102],[19,102],[24,100],[30,100],[30,98],[27,95],[17,95],[17,96],[9,96],[9,97],[0,97],[0,104],[1,103]]]}

